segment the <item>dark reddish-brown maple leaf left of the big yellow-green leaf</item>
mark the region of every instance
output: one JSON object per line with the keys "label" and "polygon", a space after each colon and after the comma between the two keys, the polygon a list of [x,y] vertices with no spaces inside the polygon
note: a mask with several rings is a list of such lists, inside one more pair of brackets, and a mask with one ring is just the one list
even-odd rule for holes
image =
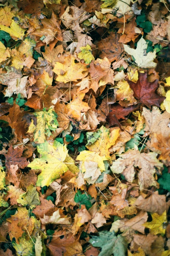
{"label": "dark reddish-brown maple leaf left of the big yellow-green leaf", "polygon": [[13,146],[10,145],[8,148],[8,153],[4,154],[6,158],[6,167],[8,170],[10,170],[11,164],[18,164],[19,168],[25,168],[28,165],[28,162],[25,157],[22,157],[23,154],[23,148],[15,148],[13,149]]}

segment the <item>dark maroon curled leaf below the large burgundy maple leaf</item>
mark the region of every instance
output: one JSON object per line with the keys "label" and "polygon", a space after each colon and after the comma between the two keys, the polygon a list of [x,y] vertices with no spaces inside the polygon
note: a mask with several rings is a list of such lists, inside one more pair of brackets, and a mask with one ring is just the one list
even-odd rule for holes
{"label": "dark maroon curled leaf below the large burgundy maple leaf", "polygon": [[135,111],[138,108],[139,105],[131,105],[127,108],[120,106],[118,103],[111,105],[111,111],[106,118],[106,121],[109,123],[109,127],[117,124],[121,128],[121,125],[118,120],[127,119],[125,116],[129,115],[132,111]]}

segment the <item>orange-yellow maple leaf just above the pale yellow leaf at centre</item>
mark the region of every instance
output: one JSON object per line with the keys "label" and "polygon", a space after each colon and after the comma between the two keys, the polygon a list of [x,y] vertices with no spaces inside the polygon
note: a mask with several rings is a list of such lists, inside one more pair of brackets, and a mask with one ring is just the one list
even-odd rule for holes
{"label": "orange-yellow maple leaf just above the pale yellow leaf at centre", "polygon": [[109,148],[115,144],[119,136],[119,129],[114,129],[110,133],[110,129],[102,126],[99,131],[100,135],[98,139],[91,145],[87,145],[86,147],[94,152],[99,152],[100,156],[105,156],[107,159],[110,159]]}

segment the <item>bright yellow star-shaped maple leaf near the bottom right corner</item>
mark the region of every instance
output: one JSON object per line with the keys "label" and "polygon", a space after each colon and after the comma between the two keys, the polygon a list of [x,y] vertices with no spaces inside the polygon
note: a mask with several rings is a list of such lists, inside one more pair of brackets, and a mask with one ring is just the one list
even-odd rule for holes
{"label": "bright yellow star-shaped maple leaf near the bottom right corner", "polygon": [[167,221],[166,219],[166,211],[162,213],[162,215],[159,215],[158,213],[151,214],[152,221],[146,222],[143,224],[146,228],[150,229],[150,234],[156,235],[156,234],[165,234],[165,229],[163,228],[164,222]]}

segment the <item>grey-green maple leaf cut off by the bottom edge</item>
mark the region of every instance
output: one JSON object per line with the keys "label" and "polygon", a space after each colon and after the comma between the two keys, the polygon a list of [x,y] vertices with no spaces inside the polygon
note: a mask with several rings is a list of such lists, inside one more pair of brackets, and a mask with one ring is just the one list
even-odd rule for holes
{"label": "grey-green maple leaf cut off by the bottom edge", "polygon": [[121,235],[115,235],[115,231],[109,232],[107,230],[99,232],[99,236],[92,236],[89,243],[93,247],[101,247],[99,256],[125,256],[127,251],[127,243],[125,238]]}

